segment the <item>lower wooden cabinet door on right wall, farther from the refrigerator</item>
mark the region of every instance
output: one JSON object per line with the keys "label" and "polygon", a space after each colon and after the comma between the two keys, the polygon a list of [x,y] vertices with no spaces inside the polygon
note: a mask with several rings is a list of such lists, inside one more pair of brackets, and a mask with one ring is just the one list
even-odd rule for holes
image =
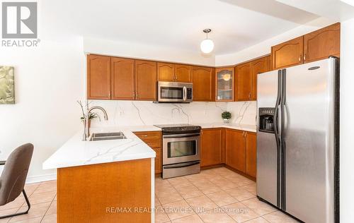
{"label": "lower wooden cabinet door on right wall, farther from the refrigerator", "polygon": [[226,164],[229,167],[245,172],[246,140],[244,131],[227,129]]}

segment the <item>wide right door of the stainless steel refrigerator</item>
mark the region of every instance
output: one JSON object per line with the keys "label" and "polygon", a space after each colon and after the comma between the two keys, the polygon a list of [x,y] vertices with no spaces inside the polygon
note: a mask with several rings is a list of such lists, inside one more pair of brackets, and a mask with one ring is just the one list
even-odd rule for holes
{"label": "wide right door of the stainless steel refrigerator", "polygon": [[335,60],[287,68],[285,211],[307,223],[333,222]]}

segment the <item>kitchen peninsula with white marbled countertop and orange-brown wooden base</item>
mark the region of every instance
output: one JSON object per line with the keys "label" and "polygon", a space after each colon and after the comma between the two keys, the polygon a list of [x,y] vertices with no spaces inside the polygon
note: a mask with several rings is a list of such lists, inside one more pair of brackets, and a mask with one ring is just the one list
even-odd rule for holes
{"label": "kitchen peninsula with white marbled countertop and orange-brown wooden base", "polygon": [[60,147],[43,163],[57,169],[57,222],[154,222],[156,154],[132,131],[159,130],[93,128],[126,138],[82,141],[79,132]]}

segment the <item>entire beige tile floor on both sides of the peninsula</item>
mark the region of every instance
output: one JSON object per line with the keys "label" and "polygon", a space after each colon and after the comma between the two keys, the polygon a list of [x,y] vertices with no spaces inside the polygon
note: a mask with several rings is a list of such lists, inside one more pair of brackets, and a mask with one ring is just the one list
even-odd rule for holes
{"label": "entire beige tile floor on both sides of the peninsula", "polygon": [[[297,222],[256,198],[256,183],[224,167],[155,181],[155,222]],[[56,222],[57,182],[25,185],[31,208],[3,222]],[[0,215],[26,209],[23,195],[0,207]]]}

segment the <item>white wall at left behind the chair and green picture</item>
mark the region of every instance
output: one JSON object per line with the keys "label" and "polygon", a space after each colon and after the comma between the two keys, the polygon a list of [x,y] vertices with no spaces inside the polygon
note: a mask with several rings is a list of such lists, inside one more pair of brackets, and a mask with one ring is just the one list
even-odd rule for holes
{"label": "white wall at left behind the chair and green picture", "polygon": [[33,143],[28,181],[52,178],[56,171],[43,170],[42,162],[81,127],[76,100],[84,95],[82,40],[1,47],[0,64],[15,68],[16,97],[16,104],[0,104],[0,159],[18,145]]}

